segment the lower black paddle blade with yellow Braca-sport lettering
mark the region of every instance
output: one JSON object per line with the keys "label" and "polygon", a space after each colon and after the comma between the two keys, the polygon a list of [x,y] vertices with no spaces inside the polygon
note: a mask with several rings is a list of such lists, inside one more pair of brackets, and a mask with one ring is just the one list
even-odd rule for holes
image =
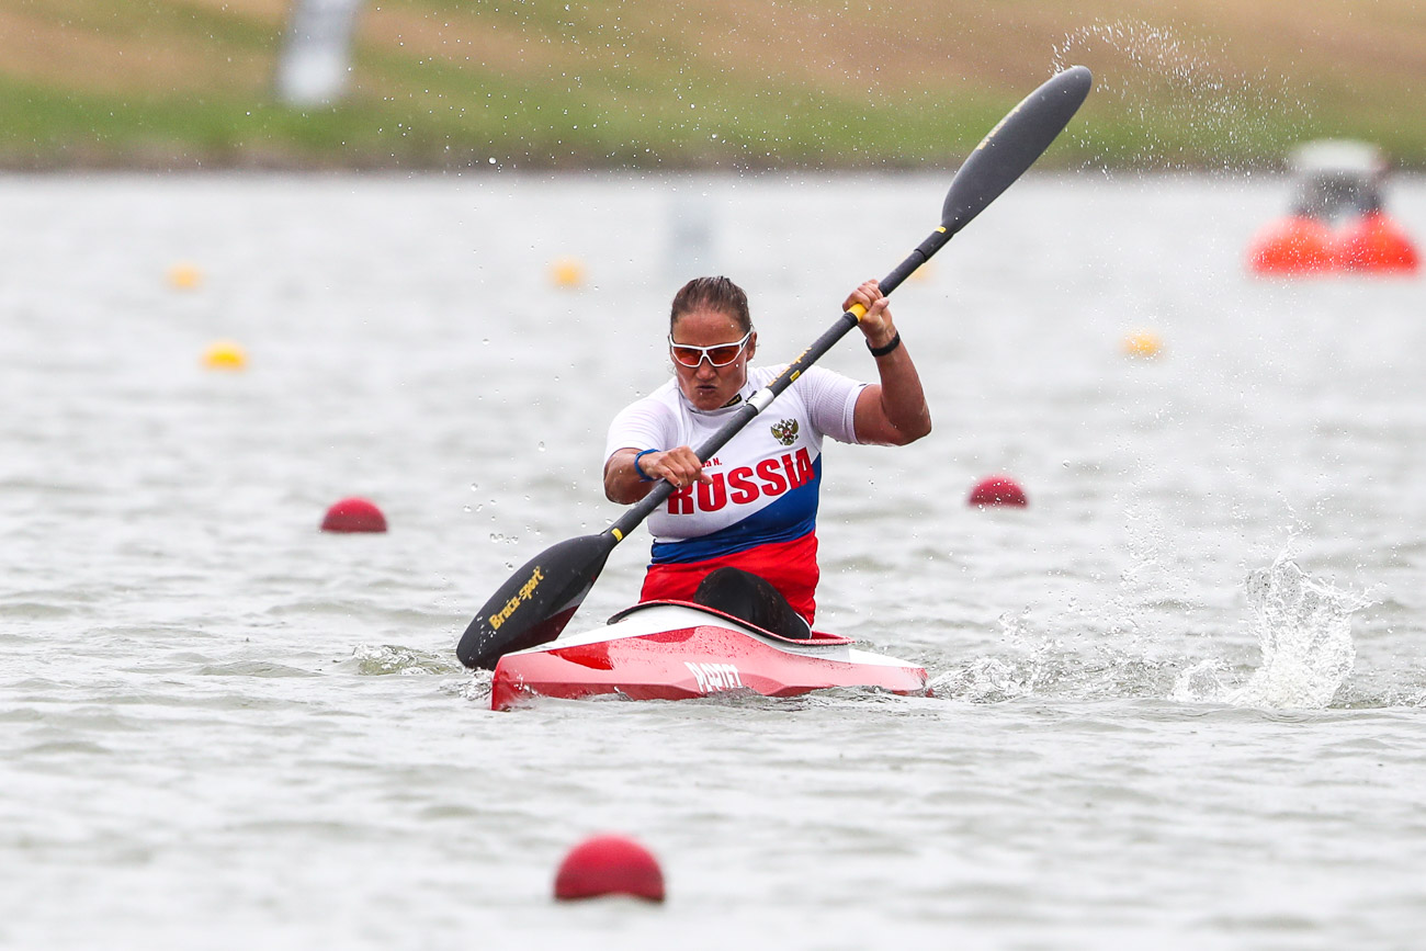
{"label": "lower black paddle blade with yellow Braca-sport lettering", "polygon": [[585,535],[545,549],[485,602],[461,634],[456,657],[466,667],[493,670],[503,654],[559,637],[616,543],[607,533]]}

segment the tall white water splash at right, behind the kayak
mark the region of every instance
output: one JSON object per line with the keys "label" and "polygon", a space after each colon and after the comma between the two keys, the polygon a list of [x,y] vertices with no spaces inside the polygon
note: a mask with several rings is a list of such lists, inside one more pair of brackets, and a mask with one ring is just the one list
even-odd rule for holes
{"label": "tall white water splash at right, behind the kayak", "polygon": [[1326,707],[1356,663],[1352,613],[1370,602],[1308,577],[1291,559],[1246,580],[1262,664],[1225,700],[1245,707]]}

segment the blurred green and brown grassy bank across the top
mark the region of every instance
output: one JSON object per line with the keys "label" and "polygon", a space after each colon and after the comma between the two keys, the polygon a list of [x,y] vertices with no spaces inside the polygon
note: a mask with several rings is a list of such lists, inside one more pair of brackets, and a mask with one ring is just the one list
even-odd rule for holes
{"label": "blurred green and brown grassy bank across the top", "polygon": [[368,0],[349,94],[298,111],[287,0],[0,0],[0,165],[941,165],[1084,63],[1062,167],[1272,167],[1330,135],[1426,168],[1415,0],[1238,6]]}

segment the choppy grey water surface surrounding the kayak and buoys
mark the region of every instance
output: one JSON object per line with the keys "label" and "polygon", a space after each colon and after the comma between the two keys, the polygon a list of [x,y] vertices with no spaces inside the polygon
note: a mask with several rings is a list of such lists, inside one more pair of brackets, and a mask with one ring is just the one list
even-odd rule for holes
{"label": "choppy grey water surface surrounding the kayak and buoys", "polygon": [[[0,180],[0,944],[1413,945],[1426,297],[1248,278],[1281,181],[1027,180],[897,292],[935,432],[829,446],[820,626],[935,697],[498,714],[455,663],[617,513],[683,278],[790,358],[945,185]],[[965,506],[995,472],[1028,509]],[[391,532],[318,532],[348,495]],[[605,830],[663,907],[550,901]]]}

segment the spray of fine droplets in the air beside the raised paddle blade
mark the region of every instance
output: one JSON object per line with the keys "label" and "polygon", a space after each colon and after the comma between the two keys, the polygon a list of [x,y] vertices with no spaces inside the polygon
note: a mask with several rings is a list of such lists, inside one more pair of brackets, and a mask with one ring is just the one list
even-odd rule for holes
{"label": "spray of fine droplets in the air beside the raised paddle blade", "polygon": [[[1097,153],[1141,168],[1184,170],[1202,163],[1232,170],[1262,150],[1281,153],[1310,117],[1286,77],[1249,77],[1229,66],[1225,50],[1189,41],[1142,20],[1101,21],[1065,34],[1054,66],[1088,64],[1095,100],[1117,108],[1131,143],[1097,141],[1092,124],[1072,133]],[[1281,141],[1279,141],[1281,140]]]}

